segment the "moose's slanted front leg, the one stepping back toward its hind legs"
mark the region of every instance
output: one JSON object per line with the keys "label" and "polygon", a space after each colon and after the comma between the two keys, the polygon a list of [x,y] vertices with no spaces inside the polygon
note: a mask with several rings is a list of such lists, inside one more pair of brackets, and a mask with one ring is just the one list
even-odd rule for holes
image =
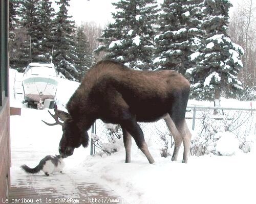
{"label": "moose's slanted front leg, the one stepping back toward its hind legs", "polygon": [[[150,164],[153,164],[155,161],[154,161],[153,157],[151,156],[150,151],[148,151],[143,132],[142,132],[140,126],[138,125],[137,121],[135,119],[129,119],[129,120],[124,121],[121,126],[128,133],[131,134],[131,136],[134,138],[137,146],[140,148],[140,150],[146,156],[148,162],[150,162]],[[130,150],[130,152],[131,152],[131,150]]]}

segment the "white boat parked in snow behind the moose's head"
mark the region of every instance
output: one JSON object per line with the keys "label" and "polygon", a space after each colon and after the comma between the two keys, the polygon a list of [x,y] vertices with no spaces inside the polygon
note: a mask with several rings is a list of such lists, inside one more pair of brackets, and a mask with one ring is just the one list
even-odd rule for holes
{"label": "white boat parked in snow behind the moose's head", "polygon": [[53,63],[30,63],[23,75],[24,99],[28,103],[42,103],[55,99],[58,81]]}

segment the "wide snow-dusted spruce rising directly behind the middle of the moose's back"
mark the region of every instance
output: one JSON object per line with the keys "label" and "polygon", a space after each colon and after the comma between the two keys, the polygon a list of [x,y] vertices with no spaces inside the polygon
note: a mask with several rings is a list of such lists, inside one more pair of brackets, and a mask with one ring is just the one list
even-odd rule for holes
{"label": "wide snow-dusted spruce rising directly behind the middle of the moose's back", "polygon": [[133,69],[151,69],[154,50],[156,0],[121,0],[113,3],[114,23],[110,23],[99,39],[106,58],[125,63]]}

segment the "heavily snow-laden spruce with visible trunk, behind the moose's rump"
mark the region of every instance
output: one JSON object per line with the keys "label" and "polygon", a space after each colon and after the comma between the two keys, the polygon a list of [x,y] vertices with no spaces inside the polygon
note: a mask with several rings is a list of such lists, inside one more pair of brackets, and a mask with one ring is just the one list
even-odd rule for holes
{"label": "heavily snow-laden spruce with visible trunk, behind the moose's rump", "polygon": [[197,52],[190,55],[196,66],[186,72],[192,83],[191,96],[214,100],[215,106],[220,106],[221,92],[235,96],[243,89],[238,80],[243,67],[240,60],[243,48],[227,36],[230,6],[227,0],[204,1],[202,29],[205,37]]}

